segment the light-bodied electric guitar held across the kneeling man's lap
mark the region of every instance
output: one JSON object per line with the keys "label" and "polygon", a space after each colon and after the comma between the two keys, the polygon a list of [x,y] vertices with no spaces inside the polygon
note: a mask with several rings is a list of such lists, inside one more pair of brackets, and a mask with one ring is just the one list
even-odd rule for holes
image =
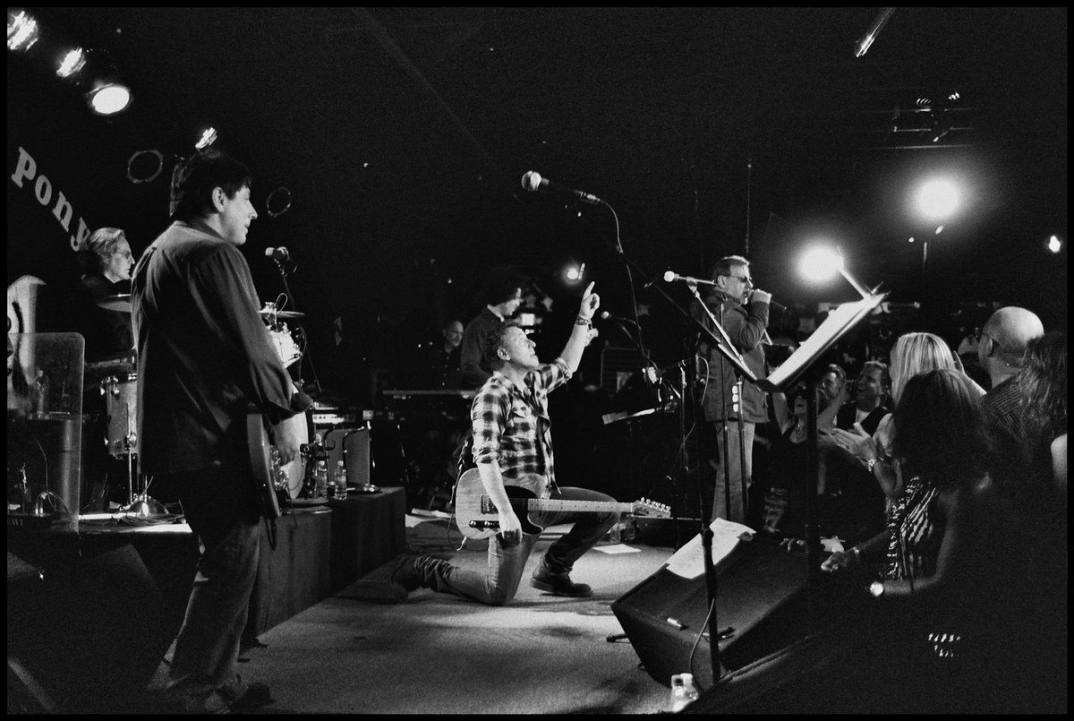
{"label": "light-bodied electric guitar held across the kneeling man's lap", "polygon": [[[505,485],[504,490],[507,491],[511,507],[522,522],[523,533],[540,533],[545,530],[531,517],[531,513],[539,510],[571,510],[594,514],[615,511],[651,518],[671,517],[668,506],[644,499],[634,503],[541,499],[537,495],[537,489],[543,488],[543,486],[545,480],[540,476],[526,476]],[[455,523],[467,538],[488,538],[499,532],[499,511],[485,492],[484,484],[481,482],[481,474],[477,468],[469,468],[459,476],[459,480],[455,482],[454,508]]]}

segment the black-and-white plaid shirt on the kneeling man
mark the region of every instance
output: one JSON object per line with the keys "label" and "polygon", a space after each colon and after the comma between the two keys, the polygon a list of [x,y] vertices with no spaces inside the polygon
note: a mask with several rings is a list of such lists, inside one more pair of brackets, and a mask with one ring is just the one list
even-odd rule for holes
{"label": "black-and-white plaid shirt on the kneeling man", "polygon": [[527,373],[522,388],[498,373],[485,380],[470,406],[475,463],[498,463],[507,482],[543,476],[542,495],[551,493],[555,471],[548,393],[569,379],[567,363],[556,358]]}

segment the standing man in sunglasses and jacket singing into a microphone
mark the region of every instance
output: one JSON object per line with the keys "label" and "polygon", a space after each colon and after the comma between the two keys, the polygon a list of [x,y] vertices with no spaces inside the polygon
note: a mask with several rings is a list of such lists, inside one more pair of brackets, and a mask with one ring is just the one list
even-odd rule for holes
{"label": "standing man in sunglasses and jacket singing into a microphone", "polygon": [[[671,279],[697,280],[688,276]],[[712,280],[701,285],[709,287],[701,301],[695,298],[691,304],[691,316],[716,337],[721,333],[713,320],[719,322],[750,373],[756,378],[766,377],[764,342],[771,294],[755,290],[750,261],[741,256],[721,258],[713,266]],[[751,297],[756,302],[751,302]],[[745,377],[737,361],[714,347],[707,334],[700,336],[698,355],[705,361],[698,367],[707,369],[708,376],[701,412],[710,439],[702,444],[709,457],[698,463],[701,482],[712,493],[712,518],[744,523],[744,491],[753,476],[755,427],[768,422],[768,395]]]}

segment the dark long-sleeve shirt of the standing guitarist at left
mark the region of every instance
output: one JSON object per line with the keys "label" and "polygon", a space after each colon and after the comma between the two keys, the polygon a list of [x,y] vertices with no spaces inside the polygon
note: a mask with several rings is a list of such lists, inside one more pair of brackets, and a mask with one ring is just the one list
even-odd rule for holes
{"label": "dark long-sleeve shirt of the standing guitarist at left", "polygon": [[251,406],[273,423],[295,409],[246,259],[212,229],[177,221],[142,256],[131,294],[142,470],[247,463]]}

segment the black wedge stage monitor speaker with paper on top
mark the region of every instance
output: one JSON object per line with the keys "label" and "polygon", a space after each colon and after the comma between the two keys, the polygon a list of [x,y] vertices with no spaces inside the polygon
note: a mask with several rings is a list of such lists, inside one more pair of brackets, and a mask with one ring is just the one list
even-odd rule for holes
{"label": "black wedge stage monitor speaker with paper on top", "polygon": [[[734,629],[720,643],[721,675],[804,635],[807,579],[804,554],[758,539],[740,544],[721,564],[715,628]],[[703,574],[683,578],[661,568],[611,609],[650,676],[670,686],[673,674],[693,673],[701,688],[708,688],[713,677],[708,605]]]}

